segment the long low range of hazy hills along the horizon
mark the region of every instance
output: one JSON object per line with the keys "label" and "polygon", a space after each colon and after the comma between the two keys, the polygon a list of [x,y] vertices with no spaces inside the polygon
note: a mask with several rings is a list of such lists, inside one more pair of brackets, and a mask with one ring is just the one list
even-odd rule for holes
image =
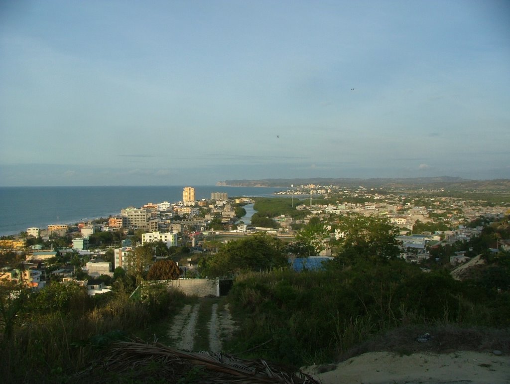
{"label": "long low range of hazy hills along the horizon", "polygon": [[446,189],[452,191],[510,192],[510,179],[468,180],[462,177],[411,177],[411,178],[265,178],[261,180],[225,180],[217,186],[229,187],[275,187],[290,188],[299,185],[335,185],[345,187],[364,186],[388,189]]}

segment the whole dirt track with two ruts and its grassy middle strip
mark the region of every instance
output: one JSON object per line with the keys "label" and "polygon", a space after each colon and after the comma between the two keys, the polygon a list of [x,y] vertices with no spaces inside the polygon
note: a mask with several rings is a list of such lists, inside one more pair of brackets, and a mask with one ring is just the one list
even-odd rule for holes
{"label": "whole dirt track with two ruts and its grassy middle strip", "polygon": [[228,304],[222,305],[219,299],[203,298],[196,304],[185,305],[174,316],[168,336],[175,348],[220,352],[223,341],[232,337],[235,329]]}

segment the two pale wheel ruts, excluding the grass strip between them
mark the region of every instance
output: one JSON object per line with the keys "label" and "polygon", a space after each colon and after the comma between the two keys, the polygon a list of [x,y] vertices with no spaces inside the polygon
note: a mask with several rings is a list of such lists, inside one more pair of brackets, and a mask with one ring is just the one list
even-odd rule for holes
{"label": "two pale wheel ruts, excluding the grass strip between them", "polygon": [[[174,316],[168,336],[172,340],[171,345],[175,348],[189,351],[195,349],[195,338],[199,334],[197,319],[202,304],[204,304],[203,300],[194,305],[187,304],[179,314]],[[208,306],[204,305],[203,308],[208,308]],[[210,314],[206,314],[209,317],[207,322],[209,334],[208,350],[211,352],[222,351],[223,341],[232,337],[236,329],[236,324],[232,320],[228,304],[224,305],[221,310],[220,308],[219,303],[214,302],[211,306]]]}

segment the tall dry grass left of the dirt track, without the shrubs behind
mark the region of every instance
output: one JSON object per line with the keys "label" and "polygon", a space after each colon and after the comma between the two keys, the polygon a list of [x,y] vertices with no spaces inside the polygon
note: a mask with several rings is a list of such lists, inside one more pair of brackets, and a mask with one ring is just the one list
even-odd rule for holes
{"label": "tall dry grass left of the dirt track, without the shrubs behind", "polygon": [[36,375],[65,382],[112,342],[152,334],[182,300],[177,291],[157,292],[145,301],[120,295],[80,311],[20,314],[10,337],[0,343],[4,380],[24,382]]}

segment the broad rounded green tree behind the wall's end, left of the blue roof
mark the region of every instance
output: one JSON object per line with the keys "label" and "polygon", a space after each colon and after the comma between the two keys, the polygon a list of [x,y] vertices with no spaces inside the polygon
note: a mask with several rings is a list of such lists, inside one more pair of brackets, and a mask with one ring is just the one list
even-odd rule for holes
{"label": "broad rounded green tree behind the wall's end, left of the blue roof", "polygon": [[199,263],[202,276],[230,276],[241,271],[260,271],[288,265],[282,241],[258,233],[224,244]]}

